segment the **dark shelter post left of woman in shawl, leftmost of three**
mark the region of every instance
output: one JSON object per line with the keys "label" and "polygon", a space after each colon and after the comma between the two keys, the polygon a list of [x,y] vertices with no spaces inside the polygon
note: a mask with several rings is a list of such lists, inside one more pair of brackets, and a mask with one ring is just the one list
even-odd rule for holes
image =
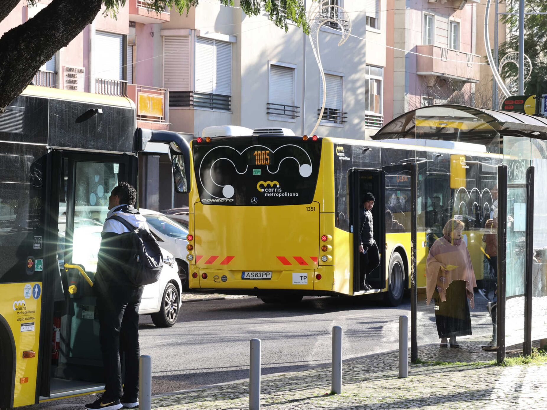
{"label": "dark shelter post left of woman in shawl, leftmost of three", "polygon": [[411,272],[410,272],[410,361],[418,360],[418,339],[416,335],[416,309],[418,306],[418,288],[416,283],[416,229],[417,229],[417,194],[418,194],[418,164],[412,163],[410,176],[410,196],[412,198],[410,214],[410,242],[411,242]]}

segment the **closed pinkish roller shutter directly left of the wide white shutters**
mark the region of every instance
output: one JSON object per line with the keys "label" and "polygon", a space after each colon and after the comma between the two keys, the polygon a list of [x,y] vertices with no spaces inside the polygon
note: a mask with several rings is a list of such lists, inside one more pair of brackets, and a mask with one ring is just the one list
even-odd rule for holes
{"label": "closed pinkish roller shutter directly left of the wide white shutters", "polygon": [[190,90],[190,36],[164,37],[164,87]]}

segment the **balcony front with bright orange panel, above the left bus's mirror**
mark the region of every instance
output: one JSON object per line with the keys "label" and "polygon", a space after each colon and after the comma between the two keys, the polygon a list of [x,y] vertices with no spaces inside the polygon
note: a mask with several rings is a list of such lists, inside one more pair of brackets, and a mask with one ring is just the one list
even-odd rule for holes
{"label": "balcony front with bright orange panel, above the left bus's mirror", "polygon": [[137,107],[137,121],[169,122],[168,89],[129,84],[127,95]]}

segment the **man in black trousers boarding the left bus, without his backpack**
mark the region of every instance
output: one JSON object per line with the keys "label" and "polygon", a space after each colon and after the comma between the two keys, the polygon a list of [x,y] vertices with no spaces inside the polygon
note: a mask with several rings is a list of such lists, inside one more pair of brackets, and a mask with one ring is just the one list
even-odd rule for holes
{"label": "man in black trousers boarding the left bus, without his backpack", "polygon": [[[135,228],[148,229],[146,219],[134,208],[136,202],[137,191],[125,182],[120,182],[110,192],[93,285],[97,296],[105,386],[102,396],[85,405],[88,410],[138,406],[138,307],[143,287],[130,282],[126,269],[134,253],[131,235],[127,235],[130,231],[122,222],[109,219],[116,215]],[[120,353],[125,356],[123,391]]]}

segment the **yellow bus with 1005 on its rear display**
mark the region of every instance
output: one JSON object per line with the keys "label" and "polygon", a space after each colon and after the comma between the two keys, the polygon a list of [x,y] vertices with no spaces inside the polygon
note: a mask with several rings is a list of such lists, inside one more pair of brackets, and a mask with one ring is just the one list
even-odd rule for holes
{"label": "yellow bus with 1005 on its rear display", "polygon": [[[434,129],[428,121],[418,125]],[[479,124],[483,134],[491,131],[465,118],[450,122],[453,140],[427,143],[397,138],[387,125],[377,140],[226,126],[206,128],[190,149],[171,144],[176,188],[189,192],[189,288],[257,295],[266,303],[376,293],[396,306],[410,287],[413,178],[417,285],[426,283],[428,249],[450,218],[465,222],[464,240],[482,279],[481,238],[494,208],[499,147],[457,140],[458,127]],[[367,278],[373,289],[364,292],[356,229],[366,191],[376,197],[381,263]]]}

